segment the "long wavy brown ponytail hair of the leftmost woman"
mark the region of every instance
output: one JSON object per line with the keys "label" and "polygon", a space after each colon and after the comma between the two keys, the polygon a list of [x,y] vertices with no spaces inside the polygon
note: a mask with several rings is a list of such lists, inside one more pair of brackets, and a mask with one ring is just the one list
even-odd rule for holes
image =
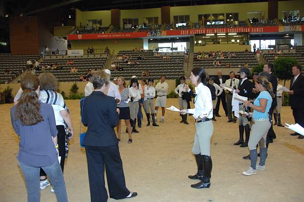
{"label": "long wavy brown ponytail hair of the leftmost woman", "polygon": [[36,125],[43,121],[39,97],[35,92],[40,86],[40,81],[37,76],[30,73],[21,79],[20,85],[23,92],[16,105],[15,118],[24,126]]}

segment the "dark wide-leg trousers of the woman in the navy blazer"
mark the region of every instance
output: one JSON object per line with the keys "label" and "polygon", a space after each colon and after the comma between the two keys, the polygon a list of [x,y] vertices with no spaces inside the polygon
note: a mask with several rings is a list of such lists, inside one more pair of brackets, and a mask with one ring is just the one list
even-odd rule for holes
{"label": "dark wide-leg trousers of the woman in the navy blazer", "polygon": [[104,168],[110,198],[122,199],[130,194],[126,187],[123,163],[118,145],[86,146],[89,184],[92,202],[106,202]]}

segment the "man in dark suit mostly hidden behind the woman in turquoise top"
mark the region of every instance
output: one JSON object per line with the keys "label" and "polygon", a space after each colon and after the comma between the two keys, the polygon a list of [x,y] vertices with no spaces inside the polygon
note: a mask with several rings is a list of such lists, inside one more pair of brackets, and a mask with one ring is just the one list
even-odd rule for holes
{"label": "man in dark suit mostly hidden behind the woman in turquoise top", "polygon": [[[270,73],[271,80],[269,80],[269,82],[271,82],[271,84],[272,84],[273,93],[275,95],[277,95],[278,78],[273,73],[273,71],[274,71],[274,65],[271,64],[271,63],[265,64],[264,67],[263,67],[263,71]],[[277,106],[277,96],[275,96],[273,98],[273,102],[272,102],[271,108],[269,110],[270,117],[273,117],[273,113],[274,113],[274,110],[275,110],[276,106]],[[276,139],[276,138],[277,138],[277,136],[276,136],[276,133],[274,132],[273,124],[271,124],[270,129],[269,129],[268,134],[267,134],[268,143],[272,143],[273,139]]]}

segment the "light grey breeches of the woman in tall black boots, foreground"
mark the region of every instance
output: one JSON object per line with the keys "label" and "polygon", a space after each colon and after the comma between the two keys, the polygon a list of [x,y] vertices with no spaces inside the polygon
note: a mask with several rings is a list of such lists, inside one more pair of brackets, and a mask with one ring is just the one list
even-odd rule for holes
{"label": "light grey breeches of the woman in tall black boots, foreground", "polygon": [[212,121],[196,123],[195,127],[196,132],[192,152],[194,154],[210,156],[210,142],[213,134]]}

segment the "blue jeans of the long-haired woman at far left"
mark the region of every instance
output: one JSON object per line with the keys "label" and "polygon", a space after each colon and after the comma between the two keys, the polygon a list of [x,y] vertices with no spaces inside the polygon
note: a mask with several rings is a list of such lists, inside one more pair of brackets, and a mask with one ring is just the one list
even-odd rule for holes
{"label": "blue jeans of the long-haired woman at far left", "polygon": [[[27,201],[28,202],[40,202],[40,167],[27,166],[20,161],[19,167],[23,173],[26,183]],[[65,183],[63,173],[58,160],[49,166],[41,167],[49,176],[53,188],[56,192],[58,202],[67,202],[67,194],[65,189]]]}

